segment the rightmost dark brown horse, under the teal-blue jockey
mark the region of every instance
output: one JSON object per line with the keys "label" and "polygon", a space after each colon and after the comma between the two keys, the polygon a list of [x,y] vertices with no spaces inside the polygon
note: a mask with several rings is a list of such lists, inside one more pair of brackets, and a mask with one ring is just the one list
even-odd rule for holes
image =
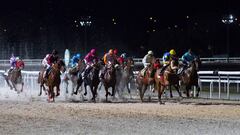
{"label": "rightmost dark brown horse, under the teal-blue jockey", "polygon": [[197,87],[197,94],[196,97],[199,96],[200,87],[198,84],[198,70],[199,66],[201,65],[201,61],[199,58],[195,59],[193,62],[190,63],[189,68],[183,71],[182,75],[180,76],[181,82],[183,85],[186,86],[186,95],[189,97],[189,90],[192,86]]}

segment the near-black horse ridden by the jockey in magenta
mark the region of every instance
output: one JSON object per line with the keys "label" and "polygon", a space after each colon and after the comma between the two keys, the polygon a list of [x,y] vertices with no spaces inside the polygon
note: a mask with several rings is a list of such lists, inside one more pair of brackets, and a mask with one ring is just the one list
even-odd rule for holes
{"label": "near-black horse ridden by the jockey in magenta", "polygon": [[100,71],[100,64],[97,61],[94,61],[92,65],[92,69],[90,70],[89,74],[84,78],[84,88],[85,88],[85,95],[87,94],[87,86],[90,87],[92,92],[92,101],[95,102],[95,98],[97,96],[97,88],[100,83],[99,79],[99,71]]}

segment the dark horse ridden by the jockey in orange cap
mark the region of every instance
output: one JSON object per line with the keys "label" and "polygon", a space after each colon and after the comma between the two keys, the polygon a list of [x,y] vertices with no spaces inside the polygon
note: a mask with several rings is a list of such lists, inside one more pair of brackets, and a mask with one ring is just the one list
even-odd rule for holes
{"label": "dark horse ridden by the jockey in orange cap", "polygon": [[[114,67],[113,63],[109,63],[108,65],[106,65],[106,72],[104,74],[104,78],[103,78],[103,85],[106,91],[106,102],[108,101],[108,95],[114,96],[115,94],[115,85],[116,85],[116,69]],[[108,91],[108,89],[112,87],[112,94]]]}

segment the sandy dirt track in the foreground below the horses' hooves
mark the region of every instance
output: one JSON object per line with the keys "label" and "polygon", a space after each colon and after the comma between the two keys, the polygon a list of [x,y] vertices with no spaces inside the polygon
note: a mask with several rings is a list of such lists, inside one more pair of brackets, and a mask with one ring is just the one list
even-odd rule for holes
{"label": "sandy dirt track in the foreground below the horses' hooves", "polygon": [[238,134],[240,107],[1,101],[1,134]]}

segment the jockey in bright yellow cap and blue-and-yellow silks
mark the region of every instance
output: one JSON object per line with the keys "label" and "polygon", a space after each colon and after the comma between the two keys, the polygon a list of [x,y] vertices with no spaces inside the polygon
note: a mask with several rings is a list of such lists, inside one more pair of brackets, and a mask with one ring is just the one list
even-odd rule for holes
{"label": "jockey in bright yellow cap and blue-and-yellow silks", "polygon": [[171,49],[169,52],[166,52],[163,54],[163,67],[160,71],[160,74],[162,75],[164,70],[170,65],[170,61],[172,59],[174,60],[178,60],[177,55],[176,55],[176,51],[174,49]]}

